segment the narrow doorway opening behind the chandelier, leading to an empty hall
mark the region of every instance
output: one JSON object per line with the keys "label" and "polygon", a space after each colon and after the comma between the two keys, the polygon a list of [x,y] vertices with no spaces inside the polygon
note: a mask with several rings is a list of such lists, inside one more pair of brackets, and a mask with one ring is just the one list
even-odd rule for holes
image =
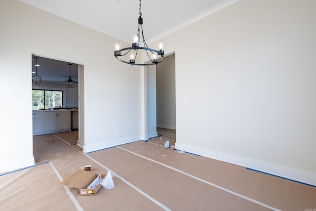
{"label": "narrow doorway opening behind the chandelier, leading to an empty hall", "polygon": [[[176,138],[175,53],[147,70],[148,137]],[[159,138],[158,138],[159,139]]]}

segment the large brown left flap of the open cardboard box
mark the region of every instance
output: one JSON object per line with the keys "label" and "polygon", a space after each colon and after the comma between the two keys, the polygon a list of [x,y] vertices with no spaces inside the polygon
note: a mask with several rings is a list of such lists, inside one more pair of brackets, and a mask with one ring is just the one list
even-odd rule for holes
{"label": "large brown left flap of the open cardboard box", "polygon": [[78,169],[61,183],[74,188],[86,188],[96,177],[95,172]]}

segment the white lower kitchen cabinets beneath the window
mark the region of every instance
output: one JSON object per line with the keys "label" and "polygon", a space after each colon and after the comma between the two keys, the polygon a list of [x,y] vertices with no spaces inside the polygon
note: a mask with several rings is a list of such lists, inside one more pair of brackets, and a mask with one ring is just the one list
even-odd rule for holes
{"label": "white lower kitchen cabinets beneath the window", "polygon": [[37,112],[33,112],[33,135],[71,130],[70,111],[44,111],[41,112],[41,117],[35,113]]}

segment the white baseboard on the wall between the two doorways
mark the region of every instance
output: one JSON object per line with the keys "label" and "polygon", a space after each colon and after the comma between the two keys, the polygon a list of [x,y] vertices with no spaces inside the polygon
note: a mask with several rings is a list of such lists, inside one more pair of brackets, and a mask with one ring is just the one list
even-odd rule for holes
{"label": "white baseboard on the wall between the two doorways", "polygon": [[121,144],[127,144],[131,143],[134,141],[141,140],[140,136],[133,136],[133,137],[127,137],[127,138],[121,138],[121,139],[114,139],[114,140],[109,140],[109,141],[104,141],[104,142],[99,142],[99,143],[94,143],[94,144],[89,144],[89,143],[84,143],[83,145],[83,152],[89,153],[97,150],[102,150],[106,149],[109,147],[114,147],[118,146]]}

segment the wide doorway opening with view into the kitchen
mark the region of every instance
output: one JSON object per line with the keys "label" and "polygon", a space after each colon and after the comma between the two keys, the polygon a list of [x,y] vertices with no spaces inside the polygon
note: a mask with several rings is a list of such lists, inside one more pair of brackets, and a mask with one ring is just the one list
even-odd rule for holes
{"label": "wide doorway opening with view into the kitchen", "polygon": [[[32,96],[33,155],[35,162],[39,163],[62,151],[56,146],[52,147],[53,145],[76,145],[79,146],[78,148],[84,145],[84,67],[80,64],[33,54],[32,72],[35,69],[34,57],[38,58],[37,63],[40,65],[37,68],[37,74],[40,75],[41,82],[39,85],[32,84],[32,90],[50,90],[47,93],[52,94],[49,97],[48,95]],[[73,88],[67,87],[65,83],[70,78],[70,74],[71,79],[76,82]],[[54,96],[55,92],[63,93],[62,99],[60,99],[60,94],[57,99]],[[54,101],[55,98],[56,102],[47,102],[47,100]],[[45,104],[45,107],[39,107],[41,104]]]}

